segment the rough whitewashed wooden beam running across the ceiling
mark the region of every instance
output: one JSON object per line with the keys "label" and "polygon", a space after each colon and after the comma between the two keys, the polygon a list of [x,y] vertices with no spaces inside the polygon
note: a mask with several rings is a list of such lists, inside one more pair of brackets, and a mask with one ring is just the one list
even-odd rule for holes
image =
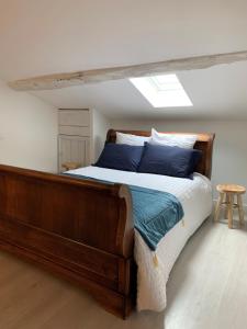
{"label": "rough whitewashed wooden beam running across the ceiling", "polygon": [[169,72],[206,69],[216,65],[233,64],[247,60],[247,50],[237,53],[205,55],[170,59],[157,63],[92,69],[70,73],[40,76],[23,80],[11,81],[8,84],[20,91],[53,90],[86,83],[98,83],[110,80],[148,77]]}

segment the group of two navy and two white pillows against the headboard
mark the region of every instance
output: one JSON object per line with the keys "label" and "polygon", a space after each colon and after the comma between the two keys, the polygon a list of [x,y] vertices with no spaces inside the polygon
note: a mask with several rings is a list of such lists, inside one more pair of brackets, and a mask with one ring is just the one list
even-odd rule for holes
{"label": "group of two navy and two white pillows against the headboard", "polygon": [[94,166],[134,172],[190,178],[202,152],[193,149],[197,135],[160,134],[150,137],[116,133],[116,143],[106,143]]}

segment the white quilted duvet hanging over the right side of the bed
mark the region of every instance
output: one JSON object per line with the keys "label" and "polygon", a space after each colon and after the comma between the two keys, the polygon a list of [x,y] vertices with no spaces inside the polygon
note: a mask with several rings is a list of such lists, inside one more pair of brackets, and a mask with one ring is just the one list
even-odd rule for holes
{"label": "white quilted duvet hanging over the right side of the bed", "polygon": [[162,310],[166,307],[166,284],[169,273],[189,237],[212,212],[210,180],[195,173],[193,180],[167,175],[137,173],[98,167],[70,170],[70,173],[94,179],[139,185],[169,192],[181,202],[184,217],[150,251],[141,235],[135,231],[135,260],[137,271],[137,308]]}

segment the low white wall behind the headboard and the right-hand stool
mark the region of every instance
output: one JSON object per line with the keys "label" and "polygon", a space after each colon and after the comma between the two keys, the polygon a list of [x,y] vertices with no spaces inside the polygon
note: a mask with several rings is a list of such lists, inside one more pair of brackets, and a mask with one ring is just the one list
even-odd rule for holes
{"label": "low white wall behind the headboard and the right-hand stool", "polygon": [[[247,186],[247,121],[242,122],[126,122],[113,121],[112,128],[147,129],[159,132],[215,133],[212,181],[236,183]],[[216,193],[214,192],[214,197]],[[247,203],[247,195],[244,197]]]}

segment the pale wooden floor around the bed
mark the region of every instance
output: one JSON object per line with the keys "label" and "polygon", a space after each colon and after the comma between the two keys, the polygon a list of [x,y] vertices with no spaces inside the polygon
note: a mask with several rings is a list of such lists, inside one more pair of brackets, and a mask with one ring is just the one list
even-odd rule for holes
{"label": "pale wooden floor around the bed", "polygon": [[205,223],[168,284],[168,308],[122,321],[85,292],[0,252],[0,329],[245,329],[247,230]]}

